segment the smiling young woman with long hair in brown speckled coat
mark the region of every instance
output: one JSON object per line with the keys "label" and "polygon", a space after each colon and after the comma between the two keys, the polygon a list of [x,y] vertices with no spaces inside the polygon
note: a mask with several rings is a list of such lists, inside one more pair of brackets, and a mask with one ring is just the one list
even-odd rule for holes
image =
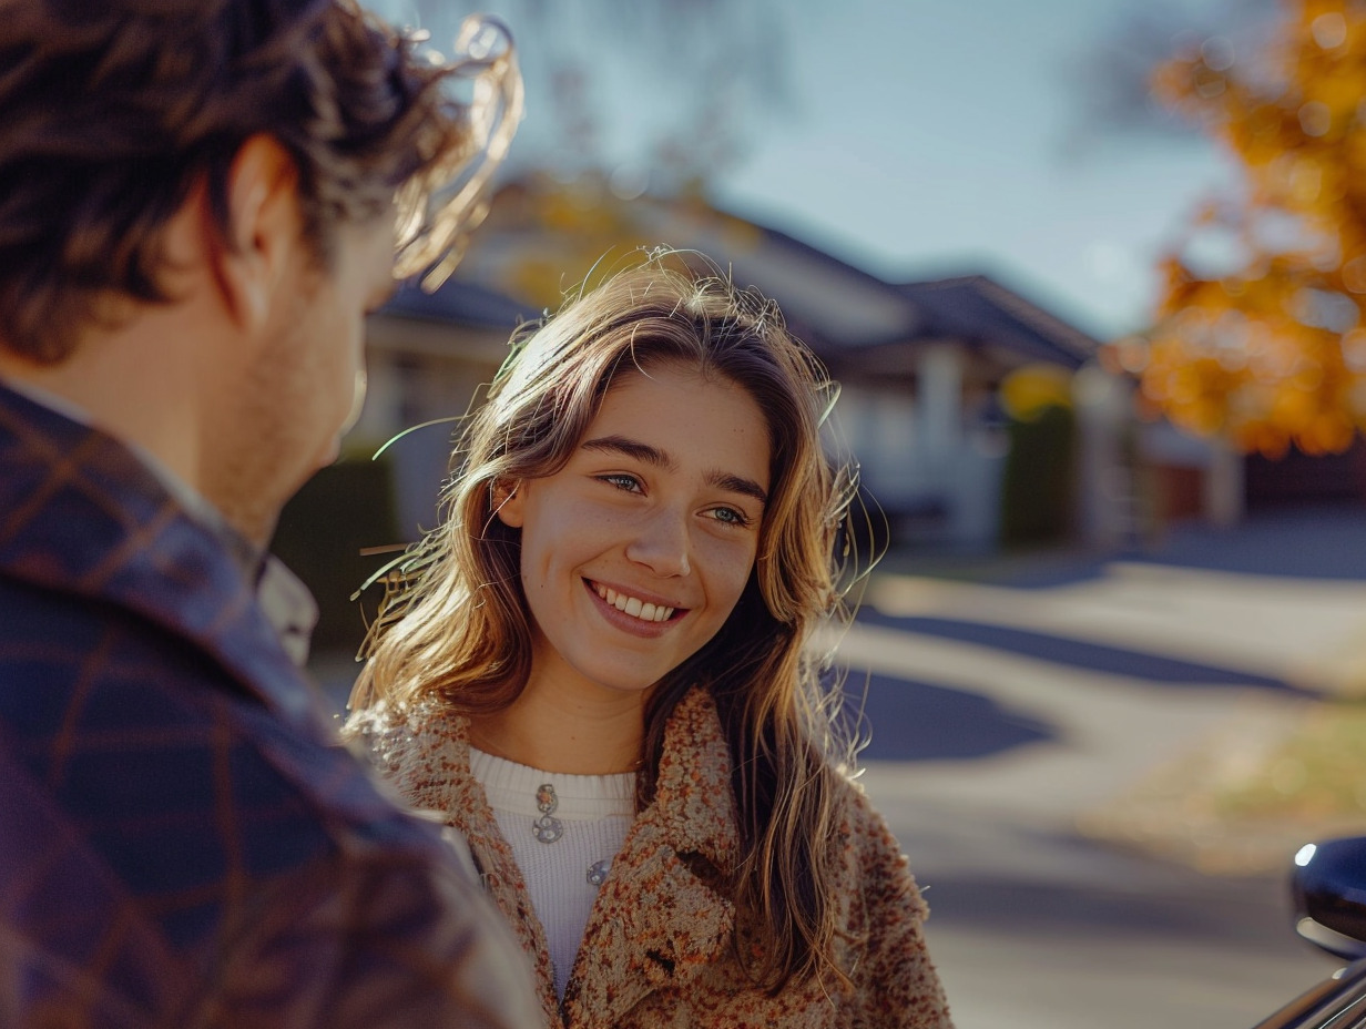
{"label": "smiling young woman with long hair in brown speckled coat", "polygon": [[546,1025],[941,1029],[818,681],[832,385],[770,303],[669,264],[515,342],[350,730],[463,834]]}

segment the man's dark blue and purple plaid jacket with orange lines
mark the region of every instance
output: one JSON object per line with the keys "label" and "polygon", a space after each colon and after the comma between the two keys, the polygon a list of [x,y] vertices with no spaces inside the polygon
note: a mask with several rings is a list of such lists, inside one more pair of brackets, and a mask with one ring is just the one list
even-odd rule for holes
{"label": "man's dark blue and purple plaid jacket with orange lines", "polygon": [[0,387],[0,1025],[538,1024],[313,696],[220,538]]}

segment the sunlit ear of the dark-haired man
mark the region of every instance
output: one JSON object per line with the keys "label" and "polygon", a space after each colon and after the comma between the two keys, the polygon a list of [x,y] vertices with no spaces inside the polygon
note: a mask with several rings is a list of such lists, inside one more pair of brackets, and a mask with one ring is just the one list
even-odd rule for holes
{"label": "sunlit ear of the dark-haired man", "polygon": [[214,272],[243,329],[269,318],[276,290],[305,246],[298,179],[294,159],[269,135],[242,143],[228,169],[227,238],[216,249]]}

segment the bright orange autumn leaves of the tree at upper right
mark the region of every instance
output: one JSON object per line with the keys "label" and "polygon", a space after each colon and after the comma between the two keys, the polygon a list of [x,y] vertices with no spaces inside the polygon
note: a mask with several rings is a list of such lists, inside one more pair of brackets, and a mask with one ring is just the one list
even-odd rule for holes
{"label": "bright orange autumn leaves of the tree at upper right", "polygon": [[1255,53],[1206,40],[1154,75],[1243,187],[1164,261],[1154,327],[1112,350],[1173,422],[1269,456],[1366,428],[1366,1],[1283,7]]}

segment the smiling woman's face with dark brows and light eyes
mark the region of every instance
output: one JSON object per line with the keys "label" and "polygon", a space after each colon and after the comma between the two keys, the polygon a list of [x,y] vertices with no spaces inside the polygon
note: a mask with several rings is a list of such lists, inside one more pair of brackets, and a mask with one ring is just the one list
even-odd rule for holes
{"label": "smiling woman's face with dark brows and light eyes", "polygon": [[684,365],[608,391],[568,463],[522,480],[527,690],[645,691],[731,615],[758,551],[769,433],[740,387]]}

